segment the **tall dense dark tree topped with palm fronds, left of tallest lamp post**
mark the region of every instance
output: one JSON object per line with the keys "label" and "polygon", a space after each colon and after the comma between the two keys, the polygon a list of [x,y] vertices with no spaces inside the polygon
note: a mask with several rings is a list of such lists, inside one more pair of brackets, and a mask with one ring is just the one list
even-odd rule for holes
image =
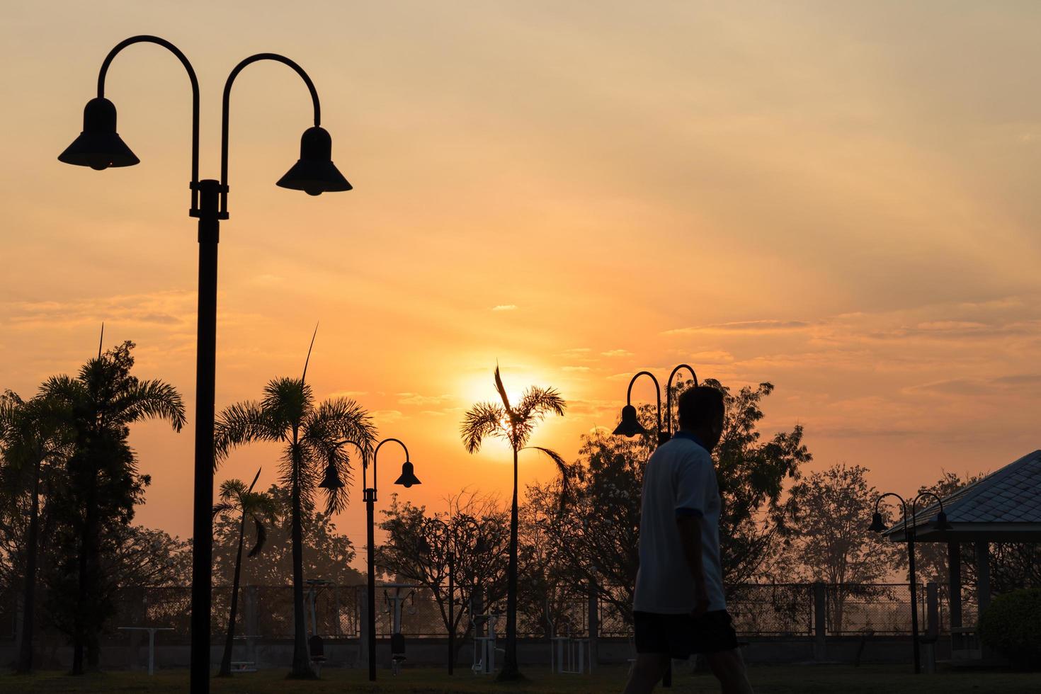
{"label": "tall dense dark tree topped with palm fronds, left of tallest lamp post", "polygon": [[173,386],[131,375],[133,348],[127,340],[91,359],[76,378],[52,377],[41,388],[41,395],[70,413],[74,433],[66,484],[52,503],[60,512],[56,539],[62,551],[61,570],[52,585],[54,599],[62,605],[52,615],[71,613],[65,625],[73,639],[73,674],[83,672],[84,647],[91,666],[97,666],[98,632],[112,611],[105,590],[111,580],[101,570],[103,536],[130,524],[150,483],[148,475],[137,473],[127,440],[130,425],[158,418],[170,421],[175,432],[184,426],[184,405]]}

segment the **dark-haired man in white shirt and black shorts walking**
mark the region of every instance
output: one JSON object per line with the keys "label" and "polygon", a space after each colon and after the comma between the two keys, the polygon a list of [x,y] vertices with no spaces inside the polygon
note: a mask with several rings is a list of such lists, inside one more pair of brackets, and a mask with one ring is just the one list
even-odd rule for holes
{"label": "dark-haired man in white shirt and black shorts walking", "polygon": [[719,487],[712,448],[722,435],[722,393],[680,395],[680,431],[643,471],[640,567],[633,619],[636,662],[626,694],[651,692],[670,658],[704,653],[723,694],[752,694],[727,613],[719,564]]}

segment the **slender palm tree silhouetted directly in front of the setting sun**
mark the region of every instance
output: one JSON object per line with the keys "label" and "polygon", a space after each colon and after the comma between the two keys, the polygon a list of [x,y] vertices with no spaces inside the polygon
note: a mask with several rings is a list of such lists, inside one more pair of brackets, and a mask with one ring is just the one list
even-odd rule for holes
{"label": "slender palm tree silhouetted directly in front of the setting sun", "polygon": [[561,502],[567,492],[567,464],[559,454],[540,446],[527,445],[535,425],[548,414],[563,415],[566,403],[553,388],[531,386],[520,396],[520,403],[511,407],[503,380],[496,365],[496,390],[502,405],[478,403],[463,417],[460,434],[467,453],[481,449],[481,442],[487,437],[504,439],[513,451],[513,505],[510,509],[510,559],[507,565],[506,587],[506,660],[499,679],[519,679],[517,669],[517,456],[525,448],[533,448],[545,454],[560,471],[563,481]]}

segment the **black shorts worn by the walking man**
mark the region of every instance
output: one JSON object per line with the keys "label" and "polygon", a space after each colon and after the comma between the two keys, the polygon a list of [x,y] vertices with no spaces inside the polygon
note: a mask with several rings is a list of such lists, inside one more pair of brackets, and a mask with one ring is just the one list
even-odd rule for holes
{"label": "black shorts worn by the walking man", "polygon": [[634,612],[637,653],[668,653],[686,660],[690,653],[717,653],[737,648],[737,633],[726,610],[690,615]]}

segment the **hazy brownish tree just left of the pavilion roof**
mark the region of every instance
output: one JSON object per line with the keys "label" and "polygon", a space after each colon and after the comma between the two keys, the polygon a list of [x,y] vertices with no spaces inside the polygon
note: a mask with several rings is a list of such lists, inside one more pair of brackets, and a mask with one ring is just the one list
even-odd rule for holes
{"label": "hazy brownish tree just left of the pavilion roof", "polygon": [[[792,552],[799,579],[832,584],[828,592],[832,629],[842,631],[845,600],[858,584],[882,581],[898,561],[900,548],[867,529],[878,490],[861,465],[832,465],[791,488]],[[888,509],[882,508],[884,520]]]}

